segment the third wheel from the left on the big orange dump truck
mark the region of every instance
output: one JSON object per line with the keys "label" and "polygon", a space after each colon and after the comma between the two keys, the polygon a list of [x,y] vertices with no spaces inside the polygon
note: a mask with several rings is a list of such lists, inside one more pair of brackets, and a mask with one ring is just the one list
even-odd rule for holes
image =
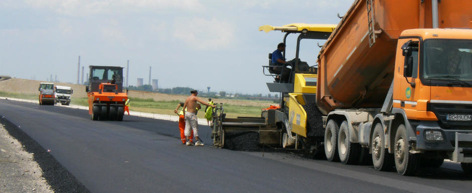
{"label": "third wheel from the left on the big orange dump truck", "polygon": [[393,156],[385,148],[384,129],[380,123],[374,128],[371,141],[372,162],[379,171],[390,170],[393,166]]}

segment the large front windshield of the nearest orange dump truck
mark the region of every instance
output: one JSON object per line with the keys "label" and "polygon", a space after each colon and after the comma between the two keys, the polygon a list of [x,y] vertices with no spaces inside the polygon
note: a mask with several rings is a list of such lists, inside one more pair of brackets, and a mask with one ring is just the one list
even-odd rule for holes
{"label": "large front windshield of the nearest orange dump truck", "polygon": [[423,78],[472,83],[471,40],[426,40],[424,49]]}

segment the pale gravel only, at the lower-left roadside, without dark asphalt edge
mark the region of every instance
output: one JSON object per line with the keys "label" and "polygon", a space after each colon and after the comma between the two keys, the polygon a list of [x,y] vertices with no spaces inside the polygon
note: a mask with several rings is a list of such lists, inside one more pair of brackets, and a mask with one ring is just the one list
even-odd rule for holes
{"label": "pale gravel only, at the lower-left roadside, without dark asphalt edge", "polygon": [[54,192],[42,174],[33,153],[0,124],[0,192]]}

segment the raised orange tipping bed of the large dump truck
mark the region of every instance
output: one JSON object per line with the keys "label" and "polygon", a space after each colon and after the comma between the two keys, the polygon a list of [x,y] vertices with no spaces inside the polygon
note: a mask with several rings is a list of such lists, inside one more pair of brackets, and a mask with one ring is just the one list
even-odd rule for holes
{"label": "raised orange tipping bed of the large dump truck", "polygon": [[[336,108],[379,107],[393,79],[397,41],[407,29],[432,28],[431,1],[372,1],[375,43],[369,44],[367,1],[356,1],[318,56],[317,104]],[[472,28],[472,1],[438,4],[439,28]]]}

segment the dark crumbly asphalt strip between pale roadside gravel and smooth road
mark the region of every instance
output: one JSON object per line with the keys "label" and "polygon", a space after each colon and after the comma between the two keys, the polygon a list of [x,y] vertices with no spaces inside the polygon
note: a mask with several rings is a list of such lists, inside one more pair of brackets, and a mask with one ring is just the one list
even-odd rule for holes
{"label": "dark crumbly asphalt strip between pale roadside gravel and smooth road", "polygon": [[[1,115],[0,115],[1,117]],[[16,138],[27,152],[33,153],[33,160],[43,170],[43,177],[54,192],[90,192],[67,169],[65,169],[46,149],[39,145],[17,125],[7,119],[0,119],[10,135]]]}

